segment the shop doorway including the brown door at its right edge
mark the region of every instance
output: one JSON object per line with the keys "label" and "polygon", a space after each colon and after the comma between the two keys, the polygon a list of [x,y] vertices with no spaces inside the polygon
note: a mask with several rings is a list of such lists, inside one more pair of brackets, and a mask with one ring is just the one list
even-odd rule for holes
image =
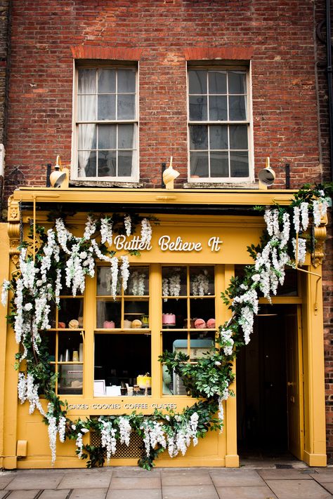
{"label": "shop doorway including the brown door at its right edge", "polygon": [[236,364],[241,458],[302,459],[302,374],[300,306],[262,306]]}

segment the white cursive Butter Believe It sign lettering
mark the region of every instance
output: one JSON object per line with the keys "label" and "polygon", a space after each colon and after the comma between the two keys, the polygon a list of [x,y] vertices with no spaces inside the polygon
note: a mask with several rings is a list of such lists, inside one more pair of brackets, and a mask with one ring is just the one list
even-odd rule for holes
{"label": "white cursive Butter Believe It sign lettering", "polygon": [[[152,249],[150,242],[143,241],[138,236],[134,236],[130,241],[127,241],[126,236],[123,234],[115,237],[114,244],[117,251],[150,251]],[[223,241],[218,236],[213,236],[207,241],[207,246],[211,248],[211,251],[215,252],[220,251],[222,244]],[[171,239],[166,234],[159,237],[158,245],[162,251],[199,252],[203,248],[201,241],[184,241],[181,236]]]}

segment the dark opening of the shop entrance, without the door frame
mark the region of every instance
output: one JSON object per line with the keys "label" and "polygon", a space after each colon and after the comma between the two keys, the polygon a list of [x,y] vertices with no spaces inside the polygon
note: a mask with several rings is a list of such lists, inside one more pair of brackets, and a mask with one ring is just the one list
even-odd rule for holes
{"label": "dark opening of the shop entrance, without the door frame", "polygon": [[237,357],[237,439],[241,458],[273,458],[292,450],[288,444],[287,371],[288,343],[294,328],[289,327],[286,318],[296,317],[296,306],[273,305],[265,307],[265,312],[259,312],[252,339]]}

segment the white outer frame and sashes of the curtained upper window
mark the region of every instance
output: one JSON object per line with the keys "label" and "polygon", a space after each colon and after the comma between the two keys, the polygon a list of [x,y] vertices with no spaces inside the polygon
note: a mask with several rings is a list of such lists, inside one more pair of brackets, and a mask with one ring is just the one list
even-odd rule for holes
{"label": "white outer frame and sashes of the curtained upper window", "polygon": [[[123,119],[123,120],[95,120],[95,121],[79,121],[77,119],[78,105],[77,105],[77,94],[78,94],[78,74],[79,69],[133,69],[136,73],[136,105],[135,105],[135,117],[134,119]],[[84,184],[84,182],[138,182],[139,181],[139,99],[138,99],[138,63],[121,63],[117,62],[111,64],[110,62],[79,62],[75,65],[74,63],[74,76],[73,76],[73,114],[72,114],[72,168],[71,168],[71,178],[72,180],[77,180]],[[79,136],[79,124],[96,124],[96,125],[119,125],[119,124],[133,124],[134,126],[134,139],[133,139],[133,166],[132,175],[128,177],[121,176],[103,176],[103,177],[81,177],[78,172],[78,136]],[[117,149],[118,150],[118,149]]]}

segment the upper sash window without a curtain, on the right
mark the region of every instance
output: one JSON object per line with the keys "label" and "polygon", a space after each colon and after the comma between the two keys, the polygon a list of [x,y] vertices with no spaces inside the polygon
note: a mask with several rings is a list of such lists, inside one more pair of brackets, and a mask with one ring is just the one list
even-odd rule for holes
{"label": "upper sash window without a curtain, on the right", "polygon": [[188,70],[190,182],[249,182],[247,69]]}

